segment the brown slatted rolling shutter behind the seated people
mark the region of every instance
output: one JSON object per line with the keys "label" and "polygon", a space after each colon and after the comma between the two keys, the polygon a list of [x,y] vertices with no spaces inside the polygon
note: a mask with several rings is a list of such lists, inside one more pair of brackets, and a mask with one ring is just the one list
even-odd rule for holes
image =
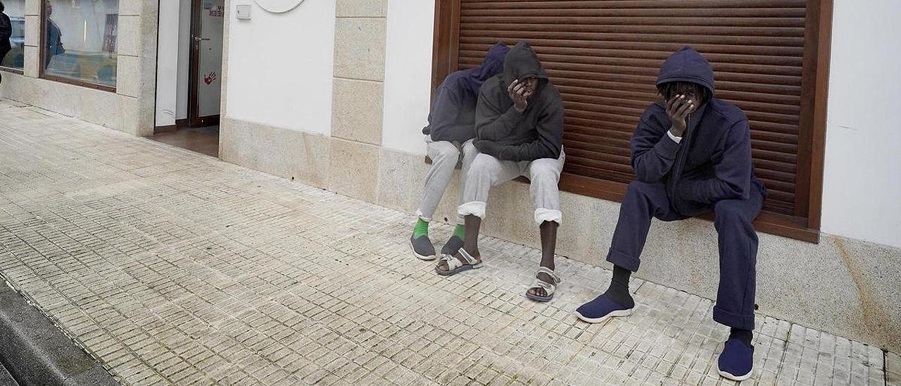
{"label": "brown slatted rolling shutter behind the seated people", "polygon": [[754,166],[769,190],[765,211],[807,224],[817,46],[805,34],[819,31],[819,0],[436,4],[435,72],[477,66],[496,41],[529,41],[538,52],[562,93],[565,172],[578,179],[569,184],[576,190],[633,179],[629,138],[660,100],[660,64],[693,46],[714,67],[716,97],[751,121]]}

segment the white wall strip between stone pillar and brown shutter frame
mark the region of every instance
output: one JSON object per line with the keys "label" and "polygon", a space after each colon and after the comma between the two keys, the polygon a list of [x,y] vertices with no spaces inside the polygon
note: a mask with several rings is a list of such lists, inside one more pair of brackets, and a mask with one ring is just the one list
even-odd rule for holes
{"label": "white wall strip between stone pillar and brown shutter frame", "polygon": [[382,146],[425,154],[435,2],[388,0]]}

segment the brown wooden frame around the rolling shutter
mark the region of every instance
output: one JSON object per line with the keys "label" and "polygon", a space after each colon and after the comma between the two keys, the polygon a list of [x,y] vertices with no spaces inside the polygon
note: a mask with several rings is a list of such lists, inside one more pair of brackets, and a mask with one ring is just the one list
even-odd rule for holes
{"label": "brown wooden frame around the rolling shutter", "polygon": [[[823,168],[826,132],[826,100],[829,92],[833,0],[807,0],[805,23],[804,72],[807,84],[799,114],[798,176],[796,186],[805,195],[796,198],[796,216],[763,211],[754,221],[755,228],[809,243],[819,244],[823,202]],[[435,0],[434,35],[432,40],[432,101],[441,81],[458,68],[460,46],[460,0]],[[810,52],[808,55],[807,52]],[[813,111],[810,111],[810,110]],[[593,179],[564,172],[560,190],[583,196],[622,202],[628,185],[604,179]],[[803,212],[803,213],[798,213]],[[712,219],[712,214],[701,218]]]}

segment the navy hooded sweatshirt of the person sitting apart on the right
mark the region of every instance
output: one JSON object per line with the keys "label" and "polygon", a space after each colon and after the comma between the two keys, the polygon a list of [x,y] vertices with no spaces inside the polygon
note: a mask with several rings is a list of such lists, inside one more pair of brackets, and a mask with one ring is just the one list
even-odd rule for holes
{"label": "navy hooded sweatshirt of the person sitting apart on the right", "polygon": [[[669,56],[657,85],[674,81],[699,84],[714,95],[714,71],[691,47]],[[667,132],[671,126],[664,102],[642,114],[633,134],[632,166],[644,182],[662,182],[679,214],[695,216],[722,199],[747,199],[752,189],[765,194],[751,164],[751,130],[741,109],[712,97],[687,118],[681,142]]]}

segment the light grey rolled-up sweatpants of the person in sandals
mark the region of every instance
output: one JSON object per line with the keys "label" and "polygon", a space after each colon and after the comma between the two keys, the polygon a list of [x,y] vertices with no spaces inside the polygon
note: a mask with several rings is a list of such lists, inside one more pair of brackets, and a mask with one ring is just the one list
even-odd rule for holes
{"label": "light grey rolled-up sweatpants of the person in sandals", "polygon": [[505,181],[525,176],[531,181],[529,189],[535,204],[535,224],[542,225],[545,221],[560,224],[562,214],[557,183],[560,181],[564,161],[566,154],[562,149],[556,160],[542,158],[519,162],[501,161],[485,153],[478,153],[469,166],[464,184],[466,188],[463,190],[464,202],[457,208],[457,212],[460,216],[475,215],[484,218],[488,190]]}

